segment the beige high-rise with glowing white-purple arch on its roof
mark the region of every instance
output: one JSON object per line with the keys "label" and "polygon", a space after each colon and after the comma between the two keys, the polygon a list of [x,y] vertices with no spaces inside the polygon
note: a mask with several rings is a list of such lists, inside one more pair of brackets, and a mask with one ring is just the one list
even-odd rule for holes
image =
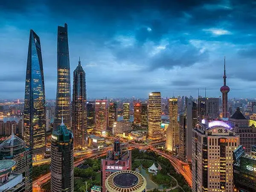
{"label": "beige high-rise with glowing white-purple arch on its roof", "polygon": [[219,120],[192,130],[192,192],[233,192],[233,151],[239,136]]}

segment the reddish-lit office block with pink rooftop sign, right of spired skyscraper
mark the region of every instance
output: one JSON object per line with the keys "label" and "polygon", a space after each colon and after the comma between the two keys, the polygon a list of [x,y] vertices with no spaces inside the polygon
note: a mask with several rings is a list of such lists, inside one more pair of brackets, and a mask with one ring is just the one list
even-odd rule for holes
{"label": "reddish-lit office block with pink rooftop sign, right of spired skyscraper", "polygon": [[103,133],[107,129],[107,100],[95,101],[95,129],[97,133]]}

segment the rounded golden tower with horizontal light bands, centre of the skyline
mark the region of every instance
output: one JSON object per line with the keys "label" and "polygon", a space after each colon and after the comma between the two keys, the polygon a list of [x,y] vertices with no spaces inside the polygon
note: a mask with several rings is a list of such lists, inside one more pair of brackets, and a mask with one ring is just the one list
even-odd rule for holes
{"label": "rounded golden tower with horizontal light bands, centre of the skyline", "polygon": [[148,137],[151,140],[162,138],[161,130],[161,93],[152,92],[148,96]]}

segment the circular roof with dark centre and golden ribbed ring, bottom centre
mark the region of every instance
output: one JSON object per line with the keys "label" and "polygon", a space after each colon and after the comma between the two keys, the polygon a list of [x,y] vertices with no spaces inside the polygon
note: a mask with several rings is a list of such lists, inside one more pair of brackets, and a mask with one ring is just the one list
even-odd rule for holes
{"label": "circular roof with dark centre and golden ribbed ring, bottom centre", "polygon": [[123,170],[111,174],[105,182],[108,192],[142,192],[146,180],[138,172]]}

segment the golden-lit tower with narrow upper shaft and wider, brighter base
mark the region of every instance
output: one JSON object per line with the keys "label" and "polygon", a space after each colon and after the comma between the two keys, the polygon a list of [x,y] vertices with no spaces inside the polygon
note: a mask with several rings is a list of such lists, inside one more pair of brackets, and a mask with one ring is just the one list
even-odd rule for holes
{"label": "golden-lit tower with narrow upper shaft and wider, brighter base", "polygon": [[175,146],[180,144],[179,125],[178,125],[178,102],[177,98],[169,99],[169,118],[170,123],[166,130],[166,148],[173,151]]}

